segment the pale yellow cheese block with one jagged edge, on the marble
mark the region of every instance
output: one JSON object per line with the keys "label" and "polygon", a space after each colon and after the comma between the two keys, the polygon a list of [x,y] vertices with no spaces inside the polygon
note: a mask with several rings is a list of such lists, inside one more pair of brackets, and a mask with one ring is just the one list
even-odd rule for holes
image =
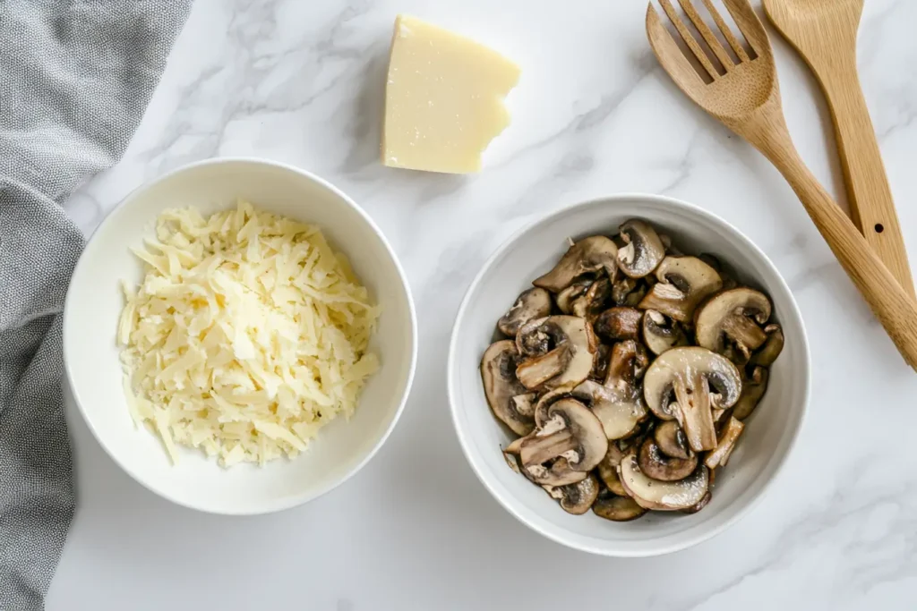
{"label": "pale yellow cheese block with one jagged edge, on the marble", "polygon": [[519,67],[473,40],[398,16],[385,87],[382,163],[461,174],[510,123]]}

